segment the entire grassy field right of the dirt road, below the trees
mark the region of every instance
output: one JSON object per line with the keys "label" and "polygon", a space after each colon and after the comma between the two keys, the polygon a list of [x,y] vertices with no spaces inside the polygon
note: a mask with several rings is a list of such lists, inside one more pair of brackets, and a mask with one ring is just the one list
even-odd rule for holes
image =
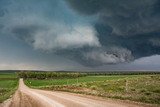
{"label": "entire grassy field right of the dirt road, below the trees", "polygon": [[26,79],[32,88],[160,104],[160,75],[86,76],[75,79]]}

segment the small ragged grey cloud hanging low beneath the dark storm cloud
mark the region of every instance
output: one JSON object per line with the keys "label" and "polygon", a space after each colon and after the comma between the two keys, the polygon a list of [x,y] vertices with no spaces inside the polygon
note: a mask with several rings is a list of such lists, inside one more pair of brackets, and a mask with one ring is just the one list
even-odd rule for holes
{"label": "small ragged grey cloud hanging low beneath the dark storm cloud", "polygon": [[99,64],[116,64],[133,60],[133,56],[129,50],[117,47],[110,47],[109,50],[92,50],[83,55],[87,60]]}

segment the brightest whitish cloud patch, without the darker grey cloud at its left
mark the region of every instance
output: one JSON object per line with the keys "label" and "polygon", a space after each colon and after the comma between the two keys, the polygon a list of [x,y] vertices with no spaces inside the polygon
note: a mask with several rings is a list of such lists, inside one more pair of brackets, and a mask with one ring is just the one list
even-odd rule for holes
{"label": "brightest whitish cloud patch, without the darker grey cloud at its left", "polygon": [[91,26],[75,26],[68,29],[67,26],[57,25],[49,30],[37,32],[33,35],[33,40],[33,46],[43,50],[100,47],[96,32]]}

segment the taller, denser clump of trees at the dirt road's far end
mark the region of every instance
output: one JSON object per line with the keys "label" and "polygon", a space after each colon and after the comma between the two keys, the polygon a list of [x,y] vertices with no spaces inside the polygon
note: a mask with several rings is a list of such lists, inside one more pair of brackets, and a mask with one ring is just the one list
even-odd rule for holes
{"label": "taller, denser clump of trees at the dirt road's far end", "polygon": [[17,72],[20,78],[32,78],[32,79],[59,79],[59,78],[78,78],[87,76],[86,73],[78,72]]}

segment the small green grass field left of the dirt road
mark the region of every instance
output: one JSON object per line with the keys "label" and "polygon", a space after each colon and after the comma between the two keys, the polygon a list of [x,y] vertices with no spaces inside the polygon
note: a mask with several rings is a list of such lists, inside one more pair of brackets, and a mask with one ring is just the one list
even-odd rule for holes
{"label": "small green grass field left of the dirt road", "polygon": [[15,73],[0,73],[0,103],[10,98],[18,86]]}

